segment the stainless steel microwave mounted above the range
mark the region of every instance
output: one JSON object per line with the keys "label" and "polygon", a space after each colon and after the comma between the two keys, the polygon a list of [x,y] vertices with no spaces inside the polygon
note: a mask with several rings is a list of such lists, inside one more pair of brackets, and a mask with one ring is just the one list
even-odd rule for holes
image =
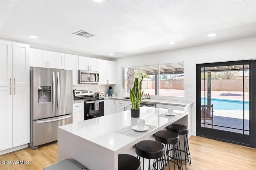
{"label": "stainless steel microwave mounted above the range", "polygon": [[98,84],[99,72],[79,70],[79,84]]}

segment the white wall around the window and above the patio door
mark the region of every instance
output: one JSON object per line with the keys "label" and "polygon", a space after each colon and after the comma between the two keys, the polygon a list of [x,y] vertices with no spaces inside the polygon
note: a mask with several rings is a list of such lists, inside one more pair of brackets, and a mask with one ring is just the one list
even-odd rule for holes
{"label": "white wall around the window and above the patio door", "polygon": [[[168,99],[194,102],[192,106],[192,135],[196,135],[196,64],[222,61],[256,59],[256,38],[226,41],[209,45],[200,45],[173,51],[150,53],[116,59],[116,85],[122,87],[122,67],[150,64],[185,62],[185,97]],[[191,97],[187,91],[191,90]],[[167,99],[167,98],[165,98]]]}

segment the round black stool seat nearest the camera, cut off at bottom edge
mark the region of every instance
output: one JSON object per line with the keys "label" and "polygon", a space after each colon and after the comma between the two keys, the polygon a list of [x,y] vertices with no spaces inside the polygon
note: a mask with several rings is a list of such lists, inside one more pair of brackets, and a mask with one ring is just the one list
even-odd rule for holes
{"label": "round black stool seat nearest the camera, cut off at bottom edge", "polygon": [[130,154],[118,154],[118,170],[141,170],[140,160]]}

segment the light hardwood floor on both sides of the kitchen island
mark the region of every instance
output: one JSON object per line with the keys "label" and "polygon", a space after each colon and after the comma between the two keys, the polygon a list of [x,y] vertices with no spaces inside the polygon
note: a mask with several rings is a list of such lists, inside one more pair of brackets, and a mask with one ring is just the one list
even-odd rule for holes
{"label": "light hardwood floor on both sides of the kitchen island", "polygon": [[[195,136],[189,138],[189,147],[192,164],[188,170],[256,170],[256,149]],[[57,143],[0,155],[0,160],[29,161],[24,165],[0,164],[0,170],[42,170],[57,162]]]}

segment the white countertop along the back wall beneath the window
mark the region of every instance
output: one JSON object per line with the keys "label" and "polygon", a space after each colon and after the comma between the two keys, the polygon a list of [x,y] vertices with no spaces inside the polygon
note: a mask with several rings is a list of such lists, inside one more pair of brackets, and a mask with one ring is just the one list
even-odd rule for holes
{"label": "white countertop along the back wall beneath the window", "polygon": [[[112,100],[126,100],[129,101],[130,99],[126,99],[122,96],[108,96],[104,98],[105,100],[107,99],[112,99]],[[186,102],[186,101],[177,101],[177,100],[163,100],[163,99],[142,99],[141,102],[143,103],[155,103],[155,104],[167,104],[167,105],[173,105],[173,106],[190,106],[193,104],[193,102]]]}

